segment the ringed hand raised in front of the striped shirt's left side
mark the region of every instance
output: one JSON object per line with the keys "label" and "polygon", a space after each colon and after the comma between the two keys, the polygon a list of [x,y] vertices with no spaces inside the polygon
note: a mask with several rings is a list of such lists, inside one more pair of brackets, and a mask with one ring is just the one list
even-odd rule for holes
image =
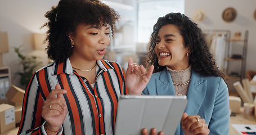
{"label": "ringed hand raised in front of the striped shirt's left side", "polygon": [[43,103],[42,117],[47,120],[48,123],[45,126],[50,131],[59,131],[68,113],[68,107],[63,96],[65,93],[66,90],[61,89],[60,84],[56,84],[55,89],[49,93]]}

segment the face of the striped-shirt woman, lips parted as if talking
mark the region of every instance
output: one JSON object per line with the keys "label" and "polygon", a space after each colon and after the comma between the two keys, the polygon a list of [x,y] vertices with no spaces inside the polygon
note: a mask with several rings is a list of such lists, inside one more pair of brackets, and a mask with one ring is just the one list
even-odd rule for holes
{"label": "face of the striped-shirt woman, lips parted as if talking", "polygon": [[74,45],[70,57],[86,61],[101,60],[110,43],[110,26],[80,24],[75,34],[70,34]]}

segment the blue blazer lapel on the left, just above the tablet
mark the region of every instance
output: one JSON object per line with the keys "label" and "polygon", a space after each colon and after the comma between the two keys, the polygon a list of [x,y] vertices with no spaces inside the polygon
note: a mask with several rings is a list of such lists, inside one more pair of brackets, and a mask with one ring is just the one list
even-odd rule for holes
{"label": "blue blazer lapel on the left, just above the tablet", "polygon": [[156,92],[157,95],[175,95],[172,77],[166,68],[161,71],[159,79],[156,79]]}

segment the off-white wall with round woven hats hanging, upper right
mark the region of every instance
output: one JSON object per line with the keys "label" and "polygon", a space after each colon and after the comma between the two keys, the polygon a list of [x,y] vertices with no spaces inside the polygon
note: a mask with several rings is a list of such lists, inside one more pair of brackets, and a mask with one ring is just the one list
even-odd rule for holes
{"label": "off-white wall with round woven hats hanging, upper right", "polygon": [[[253,17],[256,10],[255,5],[255,0],[186,0],[185,15],[192,19],[195,10],[203,9],[206,19],[198,23],[200,28],[231,30],[231,37],[236,31],[241,31],[244,34],[245,30],[249,30],[246,70],[256,71],[256,20]],[[228,7],[235,8],[237,12],[233,22],[222,20],[222,12]]]}

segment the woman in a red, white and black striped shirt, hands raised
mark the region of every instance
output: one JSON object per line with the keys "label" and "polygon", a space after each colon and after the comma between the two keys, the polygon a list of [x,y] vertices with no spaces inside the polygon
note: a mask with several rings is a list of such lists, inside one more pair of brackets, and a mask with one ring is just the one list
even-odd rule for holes
{"label": "woman in a red, white and black striped shirt, hands raised", "polygon": [[60,0],[45,16],[54,62],[30,80],[18,134],[114,134],[118,98],[143,90],[153,68],[135,75],[129,60],[125,84],[120,64],[103,59],[119,14],[101,1]]}

